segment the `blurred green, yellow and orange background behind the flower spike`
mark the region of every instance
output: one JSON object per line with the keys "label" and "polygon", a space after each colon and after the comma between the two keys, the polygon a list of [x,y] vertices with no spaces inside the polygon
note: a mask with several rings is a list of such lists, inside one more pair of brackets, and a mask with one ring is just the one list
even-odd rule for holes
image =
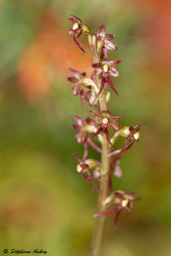
{"label": "blurred green, yellow and orange background behind the flower spike", "polygon": [[[123,155],[115,189],[142,197],[123,211],[114,231],[107,218],[103,254],[171,255],[170,1],[0,1],[0,250],[47,250],[89,255],[96,193],[75,172],[82,145],[71,115],[84,115],[69,67],[91,74],[91,55],[68,34],[70,14],[115,35],[122,60],[109,109],[124,125],[148,122]],[[87,38],[80,42],[89,51]],[[89,51],[90,52],[90,51]],[[87,106],[87,105],[86,105]],[[123,140],[116,147],[122,147]],[[89,157],[100,159],[89,150]]]}

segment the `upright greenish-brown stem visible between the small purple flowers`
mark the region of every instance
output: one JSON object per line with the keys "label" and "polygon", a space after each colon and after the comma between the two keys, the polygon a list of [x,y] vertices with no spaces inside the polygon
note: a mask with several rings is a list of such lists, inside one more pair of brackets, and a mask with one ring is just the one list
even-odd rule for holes
{"label": "upright greenish-brown stem visible between the small purple flowers", "polygon": [[[93,54],[93,62],[98,63],[100,61],[98,52],[96,50],[96,44],[90,45],[91,51]],[[100,88],[101,79],[98,78],[98,88]],[[107,102],[105,100],[104,91],[98,96],[100,110],[107,110]],[[106,207],[103,204],[105,198],[108,195],[108,175],[110,172],[110,158],[107,157],[110,153],[110,145],[107,141],[105,134],[103,134],[102,142],[102,153],[101,153],[101,167],[104,170],[104,175],[101,177],[100,182],[100,193],[98,196],[98,212],[105,211]],[[103,239],[103,232],[105,227],[105,216],[100,216],[96,220],[96,226],[94,228],[93,239],[91,243],[91,256],[100,256],[101,253],[101,244]]]}

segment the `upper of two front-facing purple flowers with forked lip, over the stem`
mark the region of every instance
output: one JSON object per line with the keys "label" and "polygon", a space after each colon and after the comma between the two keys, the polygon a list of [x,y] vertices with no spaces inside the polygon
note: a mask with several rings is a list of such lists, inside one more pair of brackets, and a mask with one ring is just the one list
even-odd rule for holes
{"label": "upper of two front-facing purple flowers with forked lip, over the stem", "polygon": [[107,83],[112,90],[117,94],[117,97],[119,97],[119,93],[115,89],[114,84],[112,83],[112,80],[110,79],[110,76],[117,77],[119,76],[118,70],[115,68],[116,65],[121,63],[121,60],[112,60],[112,61],[101,61],[99,63],[94,63],[92,65],[93,68],[96,68],[92,75],[91,79],[96,79],[97,77],[102,76],[101,79],[101,86],[100,91],[98,95],[102,92],[103,88],[105,87],[105,83]]}

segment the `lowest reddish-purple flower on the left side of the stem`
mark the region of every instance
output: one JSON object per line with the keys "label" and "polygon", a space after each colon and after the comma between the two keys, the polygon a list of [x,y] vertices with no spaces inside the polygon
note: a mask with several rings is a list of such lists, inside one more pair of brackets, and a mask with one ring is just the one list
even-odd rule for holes
{"label": "lowest reddish-purple flower on the left side of the stem", "polygon": [[85,180],[85,182],[87,182],[87,184],[89,184],[89,186],[91,186],[95,191],[98,191],[98,188],[96,188],[91,181],[93,180],[97,180],[97,181],[101,181],[101,179],[98,179],[96,177],[93,177],[93,175],[91,174],[90,170],[94,169],[94,168],[99,168],[100,167],[100,163],[98,163],[98,161],[95,161],[94,159],[86,159],[83,160],[81,157],[78,156],[77,153],[72,153],[72,155],[77,159],[78,161],[78,165],[77,165],[77,172],[80,173],[82,175],[82,178]]}

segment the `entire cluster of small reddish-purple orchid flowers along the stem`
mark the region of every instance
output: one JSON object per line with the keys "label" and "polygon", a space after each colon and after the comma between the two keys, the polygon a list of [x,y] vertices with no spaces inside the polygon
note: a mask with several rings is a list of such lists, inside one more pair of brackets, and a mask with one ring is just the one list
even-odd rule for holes
{"label": "entire cluster of small reddish-purple orchid flowers along the stem", "polygon": [[[78,115],[73,115],[73,119],[76,124],[73,125],[73,128],[78,131],[75,135],[78,143],[84,145],[84,154],[82,157],[78,156],[77,153],[73,153],[73,156],[77,159],[77,172],[80,173],[82,178],[93,188],[93,191],[100,193],[100,182],[103,178],[105,170],[103,170],[100,161],[94,159],[87,159],[88,148],[92,147],[99,154],[102,153],[101,147],[96,145],[93,141],[94,137],[98,137],[100,144],[103,142],[103,134],[106,136],[108,144],[111,147],[112,152],[108,154],[108,157],[114,156],[110,161],[110,177],[108,179],[108,196],[105,199],[106,211],[98,212],[94,214],[94,217],[101,215],[115,214],[115,227],[117,225],[117,218],[123,209],[131,211],[133,209],[133,201],[140,198],[134,197],[135,191],[125,192],[124,190],[114,191],[112,187],[112,175],[115,177],[122,177],[123,171],[119,164],[121,163],[121,154],[126,152],[135,141],[139,140],[140,126],[145,124],[135,125],[134,127],[126,126],[119,129],[118,120],[123,118],[123,116],[115,116],[108,111],[108,109],[101,111],[99,97],[101,93],[105,95],[105,102],[108,103],[110,99],[110,92],[105,90],[105,84],[108,84],[110,88],[116,93],[119,97],[114,84],[112,83],[111,76],[119,76],[118,70],[115,68],[116,65],[121,63],[121,60],[110,60],[108,57],[108,51],[115,51],[117,49],[116,45],[112,42],[115,38],[112,34],[105,33],[105,26],[102,25],[98,28],[97,33],[91,33],[89,27],[85,24],[82,24],[82,21],[70,15],[68,19],[69,22],[73,24],[73,27],[70,29],[69,33],[73,35],[73,40],[75,44],[78,45],[83,54],[85,51],[84,47],[78,41],[80,35],[85,33],[88,36],[89,45],[94,47],[94,51],[98,56],[98,62],[93,63],[92,67],[94,68],[91,77],[88,77],[85,72],[78,72],[77,70],[70,68],[73,76],[68,77],[68,81],[73,83],[73,95],[80,95],[82,102],[82,108],[84,109],[85,118],[82,118]],[[98,81],[98,83],[97,83]],[[91,114],[94,117],[87,117],[85,111],[84,101],[87,101],[89,106],[94,107],[97,111],[90,110]],[[114,135],[110,138],[108,129],[116,130]],[[114,150],[114,143],[119,136],[125,138],[124,145],[122,148]],[[96,183],[96,186],[94,185]],[[114,204],[114,208],[109,209],[110,205]]]}

